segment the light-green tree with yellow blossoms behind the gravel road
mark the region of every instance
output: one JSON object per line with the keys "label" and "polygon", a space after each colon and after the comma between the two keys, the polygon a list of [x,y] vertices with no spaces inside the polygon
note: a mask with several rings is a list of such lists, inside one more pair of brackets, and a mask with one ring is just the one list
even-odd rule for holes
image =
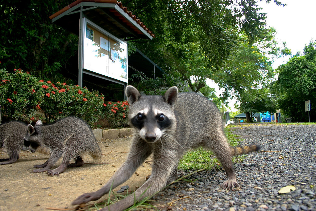
{"label": "light-green tree with yellow blossoms behind the gravel road", "polygon": [[225,91],[224,100],[236,97],[240,101],[240,111],[245,112],[247,121],[251,121],[252,112],[275,110],[270,103],[268,84],[274,76],[270,58],[281,51],[274,40],[275,29],[265,31],[265,39],[250,45],[245,34],[240,35],[239,46],[232,56],[224,62],[221,71],[214,74],[215,82]]}

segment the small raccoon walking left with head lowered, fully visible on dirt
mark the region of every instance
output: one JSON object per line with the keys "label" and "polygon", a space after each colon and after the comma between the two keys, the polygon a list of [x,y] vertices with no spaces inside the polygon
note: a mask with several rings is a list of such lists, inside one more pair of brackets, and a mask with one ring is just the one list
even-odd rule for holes
{"label": "small raccoon walking left with head lowered, fully visible on dirt", "polygon": [[[85,121],[74,116],[65,117],[48,125],[43,125],[40,120],[36,122],[35,127],[27,125],[24,145],[30,146],[31,149],[44,145],[50,149],[51,157],[44,164],[34,165],[34,168],[38,169],[33,172],[47,171],[51,176],[58,176],[67,167],[82,166],[83,152],[89,152],[94,159],[102,156],[92,129]],[[60,157],[63,157],[60,166],[51,170]],[[74,159],[75,163],[70,164],[71,159]]]}

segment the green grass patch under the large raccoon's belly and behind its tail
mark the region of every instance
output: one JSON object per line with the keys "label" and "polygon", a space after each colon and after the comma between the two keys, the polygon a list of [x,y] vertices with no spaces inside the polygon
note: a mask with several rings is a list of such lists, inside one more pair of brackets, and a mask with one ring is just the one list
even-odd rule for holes
{"label": "green grass patch under the large raccoon's belly and behind its tail", "polygon": [[[243,141],[240,136],[234,135],[229,128],[224,128],[228,143],[231,146],[237,146],[238,142]],[[242,162],[246,155],[238,155],[233,158],[233,162]],[[210,150],[199,147],[187,152],[179,162],[179,169],[221,169],[222,165]]]}

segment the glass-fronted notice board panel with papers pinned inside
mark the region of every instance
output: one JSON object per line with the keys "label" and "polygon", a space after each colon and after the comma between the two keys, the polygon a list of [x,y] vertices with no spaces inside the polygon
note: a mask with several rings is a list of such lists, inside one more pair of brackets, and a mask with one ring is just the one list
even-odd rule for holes
{"label": "glass-fronted notice board panel with papers pinned inside", "polygon": [[127,83],[127,43],[87,19],[84,26],[83,69]]}

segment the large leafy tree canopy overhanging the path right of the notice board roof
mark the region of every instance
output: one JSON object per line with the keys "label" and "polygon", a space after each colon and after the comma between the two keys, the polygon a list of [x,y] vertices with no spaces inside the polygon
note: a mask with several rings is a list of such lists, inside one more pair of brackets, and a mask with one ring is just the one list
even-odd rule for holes
{"label": "large leafy tree canopy overhanging the path right of the notice board roof", "polygon": [[255,0],[123,3],[156,34],[152,42],[136,40],[134,45],[195,92],[205,86],[206,78],[222,71],[224,61],[239,47],[240,33],[249,45],[267,35],[265,14]]}

